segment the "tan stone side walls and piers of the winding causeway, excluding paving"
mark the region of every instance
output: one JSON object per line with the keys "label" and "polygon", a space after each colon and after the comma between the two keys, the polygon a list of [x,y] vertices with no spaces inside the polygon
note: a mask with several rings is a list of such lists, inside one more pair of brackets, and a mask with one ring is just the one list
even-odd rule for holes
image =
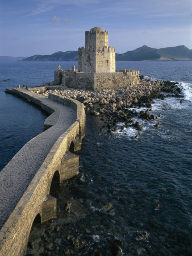
{"label": "tan stone side walls and piers of the winding causeway, excluding paving", "polygon": [[[23,92],[23,90],[9,89],[9,92],[26,98],[26,100],[40,106],[40,108],[48,113],[55,111],[51,106],[42,104],[40,99],[35,98],[34,93],[28,90]],[[51,97],[56,99],[55,96]],[[59,101],[58,98],[56,100]],[[72,143],[75,144],[76,139],[84,137],[85,112],[80,102],[64,98],[61,99],[61,102],[77,110],[77,119],[57,139],[47,158],[45,158],[41,167],[36,172],[34,179],[28,185],[26,192],[24,192],[9,219],[3,225],[0,231],[0,255],[2,256],[24,255],[35,217],[40,215],[41,221],[45,221],[50,218],[49,208],[53,208],[54,213],[56,201],[54,199],[52,200],[48,195],[53,176],[58,173],[59,179],[62,181],[78,173],[78,157],[72,153],[66,154],[65,156],[65,152],[69,151]],[[55,112],[56,114],[54,114]],[[52,121],[50,117],[47,118],[50,126],[55,125],[57,122],[57,110],[55,112],[52,114],[54,115]],[[70,167],[73,168],[72,171],[69,171]],[[52,217],[55,217],[54,214]]]}

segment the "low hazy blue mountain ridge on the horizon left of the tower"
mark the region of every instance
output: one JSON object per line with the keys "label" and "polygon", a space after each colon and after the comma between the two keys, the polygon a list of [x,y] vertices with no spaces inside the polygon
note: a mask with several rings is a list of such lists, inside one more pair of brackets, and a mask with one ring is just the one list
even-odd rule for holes
{"label": "low hazy blue mountain ridge on the horizon left of the tower", "polygon": [[55,52],[52,55],[34,55],[20,61],[78,61],[78,51]]}

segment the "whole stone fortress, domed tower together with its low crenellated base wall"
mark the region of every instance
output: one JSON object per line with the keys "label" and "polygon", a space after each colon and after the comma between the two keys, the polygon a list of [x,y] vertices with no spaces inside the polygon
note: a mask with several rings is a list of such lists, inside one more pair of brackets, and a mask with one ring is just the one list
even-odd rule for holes
{"label": "whole stone fortress, domed tower together with its low crenellated base wall", "polygon": [[59,66],[53,82],[78,90],[131,88],[139,83],[139,71],[115,69],[115,47],[108,46],[108,32],[99,27],[85,32],[85,47],[78,48],[78,69]]}

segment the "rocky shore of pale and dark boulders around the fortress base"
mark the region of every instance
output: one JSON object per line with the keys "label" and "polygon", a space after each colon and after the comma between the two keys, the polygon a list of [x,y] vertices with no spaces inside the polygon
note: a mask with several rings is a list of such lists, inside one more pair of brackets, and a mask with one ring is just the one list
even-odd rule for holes
{"label": "rocky shore of pale and dark boulders around the fortress base", "polygon": [[[139,122],[134,122],[132,118],[158,119],[152,114],[152,104],[155,103],[156,98],[165,100],[166,97],[183,97],[177,82],[151,80],[140,80],[140,85],[129,89],[105,89],[99,92],[65,89],[47,90],[40,93],[48,97],[49,92],[82,102],[86,112],[100,117],[103,121],[101,131],[106,130],[108,133],[117,131],[118,123],[123,122],[121,131],[125,127],[134,127],[138,131],[135,134],[136,137],[140,135],[143,127]],[[182,103],[182,100],[180,102]],[[147,110],[140,110],[143,107]],[[155,124],[156,127],[160,125],[160,122]]]}

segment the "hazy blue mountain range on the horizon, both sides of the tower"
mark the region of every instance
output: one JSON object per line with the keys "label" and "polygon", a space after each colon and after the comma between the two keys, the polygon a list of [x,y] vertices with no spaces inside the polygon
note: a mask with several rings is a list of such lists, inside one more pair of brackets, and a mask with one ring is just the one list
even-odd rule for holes
{"label": "hazy blue mountain range on the horizon, both sides of the tower", "polygon": [[[55,52],[52,55],[34,55],[20,61],[77,61],[78,51]],[[192,50],[185,46],[151,48],[139,47],[122,54],[116,53],[116,61],[176,61],[192,60]]]}

